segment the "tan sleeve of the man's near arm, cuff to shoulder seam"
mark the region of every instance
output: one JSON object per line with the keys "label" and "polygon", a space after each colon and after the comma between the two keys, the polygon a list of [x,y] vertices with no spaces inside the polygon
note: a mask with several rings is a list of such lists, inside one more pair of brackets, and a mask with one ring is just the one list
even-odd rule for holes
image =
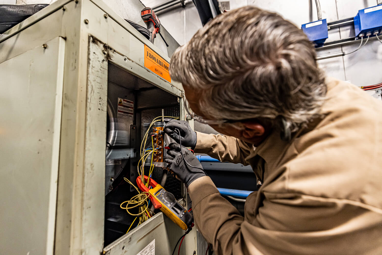
{"label": "tan sleeve of the man's near arm, cuff to shoulder seam", "polygon": [[243,218],[207,176],[189,195],[196,227],[217,255],[382,254],[380,210],[353,201],[253,192]]}

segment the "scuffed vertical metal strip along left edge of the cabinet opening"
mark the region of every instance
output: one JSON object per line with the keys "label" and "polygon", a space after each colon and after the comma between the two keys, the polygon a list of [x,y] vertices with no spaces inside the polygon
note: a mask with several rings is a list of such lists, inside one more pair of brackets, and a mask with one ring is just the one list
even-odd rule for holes
{"label": "scuffed vertical metal strip along left edge of the cabinet opening", "polygon": [[[107,115],[106,46],[89,36],[82,240],[88,254],[99,254],[104,239],[105,141]],[[97,228],[94,224],[97,223]]]}

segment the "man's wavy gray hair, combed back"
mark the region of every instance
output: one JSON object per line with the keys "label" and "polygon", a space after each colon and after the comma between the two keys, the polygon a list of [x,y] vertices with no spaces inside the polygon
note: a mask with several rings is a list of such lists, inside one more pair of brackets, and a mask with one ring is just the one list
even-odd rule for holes
{"label": "man's wavy gray hair, combed back", "polygon": [[172,56],[170,74],[201,92],[216,119],[262,119],[298,130],[320,112],[327,87],[308,37],[276,13],[246,6],[219,15]]}

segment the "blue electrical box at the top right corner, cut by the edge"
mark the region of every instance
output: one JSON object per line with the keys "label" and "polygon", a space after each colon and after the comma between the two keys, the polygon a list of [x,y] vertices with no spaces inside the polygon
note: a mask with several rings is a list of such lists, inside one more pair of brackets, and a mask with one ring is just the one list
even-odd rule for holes
{"label": "blue electrical box at the top right corner, cut by the edge", "polygon": [[382,5],[377,5],[371,8],[359,10],[357,16],[354,17],[354,31],[356,37],[360,34],[366,36],[367,33],[371,33],[374,36],[374,32],[380,33],[382,30]]}

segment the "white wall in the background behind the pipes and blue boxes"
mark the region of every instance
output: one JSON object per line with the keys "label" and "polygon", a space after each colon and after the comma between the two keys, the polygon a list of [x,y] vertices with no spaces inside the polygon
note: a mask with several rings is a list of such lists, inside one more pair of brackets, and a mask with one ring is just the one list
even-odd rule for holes
{"label": "white wall in the background behind the pipes and blue boxes", "polygon": [[[146,6],[155,6],[164,0],[142,0]],[[338,19],[354,17],[358,10],[377,5],[376,0],[320,0],[322,17],[328,22]],[[230,0],[231,9],[245,5],[255,5],[265,10],[274,11],[288,19],[296,26],[317,19],[314,0]],[[186,8],[175,8],[167,12],[157,13],[163,26],[165,26],[175,40],[183,45],[189,41],[197,29],[202,27],[196,8],[192,2]],[[354,36],[351,27],[332,29],[329,31],[327,41]],[[382,44],[371,41],[365,47],[351,55],[320,60],[319,65],[328,76],[341,80],[350,80],[352,83],[363,86],[382,82],[382,61],[377,58],[377,52],[382,52]],[[319,50],[317,55],[326,55],[337,52],[350,52],[358,44],[344,47]]]}

